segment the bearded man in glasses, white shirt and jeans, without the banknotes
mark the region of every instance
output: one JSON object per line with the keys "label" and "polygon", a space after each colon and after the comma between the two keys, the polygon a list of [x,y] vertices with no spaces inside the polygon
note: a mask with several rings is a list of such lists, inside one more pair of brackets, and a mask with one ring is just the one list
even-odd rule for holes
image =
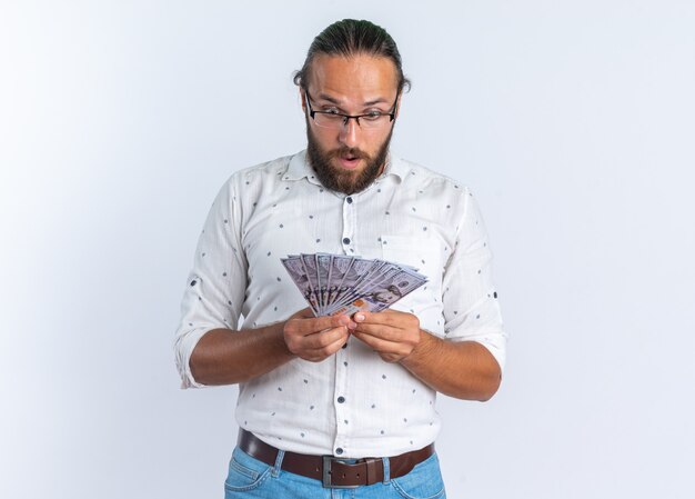
{"label": "bearded man in glasses, white shirt and jeans, without the banknotes", "polygon": [[[205,221],[175,339],[183,387],[240,386],[228,497],[443,497],[436,392],[487,400],[504,363],[476,202],[390,154],[409,81],[382,28],[330,26],[295,83],[306,151],[234,173]],[[314,317],[280,260],[314,252],[429,281],[382,312]]]}

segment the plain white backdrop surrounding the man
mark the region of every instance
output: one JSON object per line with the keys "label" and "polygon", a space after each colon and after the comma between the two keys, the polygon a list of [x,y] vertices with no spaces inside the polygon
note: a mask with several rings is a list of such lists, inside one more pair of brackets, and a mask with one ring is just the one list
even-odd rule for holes
{"label": "plain white backdrop surrounding the man", "polygon": [[393,149],[492,238],[508,363],[439,401],[449,496],[695,497],[688,0],[0,2],[0,497],[222,497],[236,388],[179,389],[179,301],[345,17],[413,80]]}

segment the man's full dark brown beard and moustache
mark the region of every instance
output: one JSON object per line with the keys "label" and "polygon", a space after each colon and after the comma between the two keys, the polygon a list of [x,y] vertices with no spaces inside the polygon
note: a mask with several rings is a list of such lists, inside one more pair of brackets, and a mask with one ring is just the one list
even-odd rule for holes
{"label": "man's full dark brown beard and moustache", "polygon": [[[386,161],[389,156],[389,144],[391,143],[391,136],[393,134],[393,127],[389,131],[389,136],[384,142],[380,146],[376,154],[373,157],[367,154],[357,148],[341,147],[326,151],[319,146],[309,120],[306,121],[306,157],[309,158],[309,164],[313,168],[319,181],[325,187],[335,192],[343,192],[345,194],[354,194],[361,192],[372,184],[372,182],[379,177],[382,171],[382,166]],[[343,170],[342,168],[334,167],[331,160],[340,157],[350,156],[359,158],[366,162],[366,166],[362,171]]]}

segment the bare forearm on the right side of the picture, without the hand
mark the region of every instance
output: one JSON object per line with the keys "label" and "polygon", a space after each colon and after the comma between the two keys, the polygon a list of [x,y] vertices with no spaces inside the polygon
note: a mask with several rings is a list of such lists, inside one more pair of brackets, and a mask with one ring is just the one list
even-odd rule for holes
{"label": "bare forearm on the right side of the picture, without the hand", "polygon": [[401,365],[432,389],[457,399],[488,400],[502,379],[497,361],[481,343],[444,341],[426,331]]}

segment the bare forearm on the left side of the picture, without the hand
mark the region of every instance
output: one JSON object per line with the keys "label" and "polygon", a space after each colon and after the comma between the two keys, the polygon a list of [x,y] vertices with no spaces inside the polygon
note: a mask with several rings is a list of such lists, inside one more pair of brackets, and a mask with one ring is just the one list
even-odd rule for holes
{"label": "bare forearm on the left side of the picture, without the hand", "polygon": [[203,385],[234,385],[292,360],[283,338],[284,322],[253,330],[213,329],[191,355],[191,372]]}

